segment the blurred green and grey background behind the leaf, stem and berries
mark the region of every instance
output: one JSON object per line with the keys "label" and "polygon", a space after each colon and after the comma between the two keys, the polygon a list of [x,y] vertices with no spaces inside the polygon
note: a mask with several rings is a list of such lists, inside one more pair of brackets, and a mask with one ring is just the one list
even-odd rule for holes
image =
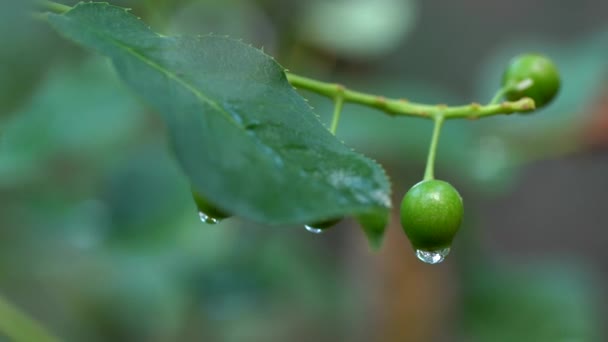
{"label": "blurred green and grey background behind the leaf, stem and berries", "polygon": [[[113,3],[386,96],[485,102],[528,51],[563,88],[532,115],[445,125],[436,174],[466,218],[431,266],[397,210],[376,253],[351,220],[321,235],[202,224],[158,115],[27,1],[0,0],[0,340],[15,310],[67,341],[608,340],[608,2]],[[327,122],[331,103],[304,95]],[[338,136],[386,167],[398,204],[431,129],[347,105]]]}

